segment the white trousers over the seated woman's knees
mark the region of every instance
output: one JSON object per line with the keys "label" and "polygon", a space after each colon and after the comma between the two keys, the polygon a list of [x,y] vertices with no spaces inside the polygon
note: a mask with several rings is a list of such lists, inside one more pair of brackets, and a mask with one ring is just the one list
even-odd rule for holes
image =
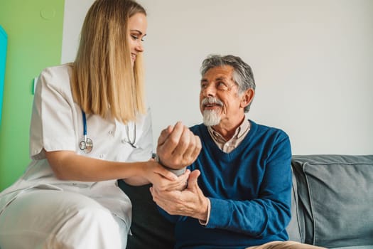
{"label": "white trousers over the seated woman's knees", "polygon": [[123,221],[82,194],[33,190],[0,214],[0,248],[126,248]]}

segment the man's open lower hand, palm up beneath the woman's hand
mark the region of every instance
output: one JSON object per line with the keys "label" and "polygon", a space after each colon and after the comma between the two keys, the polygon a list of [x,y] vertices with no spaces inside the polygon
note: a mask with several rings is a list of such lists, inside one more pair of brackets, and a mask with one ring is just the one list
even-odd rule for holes
{"label": "man's open lower hand, palm up beneath the woman's hand", "polygon": [[153,201],[171,215],[190,216],[206,221],[209,199],[205,197],[198,186],[197,179],[200,171],[190,173],[188,187],[183,191],[161,191],[151,187]]}

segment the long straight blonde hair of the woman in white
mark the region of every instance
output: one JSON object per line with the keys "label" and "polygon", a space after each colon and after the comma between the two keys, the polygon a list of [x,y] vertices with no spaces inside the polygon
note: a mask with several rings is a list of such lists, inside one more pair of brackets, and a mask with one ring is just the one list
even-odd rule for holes
{"label": "long straight blonde hair of the woman in white", "polygon": [[97,0],[90,7],[72,63],[75,102],[87,114],[135,121],[145,113],[142,55],[131,65],[128,20],[145,9],[131,0]]}

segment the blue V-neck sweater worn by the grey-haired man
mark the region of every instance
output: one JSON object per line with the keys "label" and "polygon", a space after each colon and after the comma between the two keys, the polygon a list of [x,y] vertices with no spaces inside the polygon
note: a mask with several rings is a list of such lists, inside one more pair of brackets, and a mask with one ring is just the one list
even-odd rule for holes
{"label": "blue V-neck sweater worn by the grey-haired man", "polygon": [[207,127],[190,129],[202,142],[198,185],[210,198],[207,226],[195,218],[169,216],[176,223],[175,248],[246,248],[287,240],[291,216],[291,145],[281,129],[251,123],[241,144],[225,153]]}

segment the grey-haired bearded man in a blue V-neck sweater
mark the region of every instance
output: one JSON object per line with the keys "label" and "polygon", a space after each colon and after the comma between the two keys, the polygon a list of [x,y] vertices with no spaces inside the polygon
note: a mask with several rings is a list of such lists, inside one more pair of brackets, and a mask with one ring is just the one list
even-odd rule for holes
{"label": "grey-haired bearded man in a blue V-neck sweater", "polygon": [[250,66],[233,55],[211,55],[201,75],[203,124],[190,130],[202,150],[188,166],[188,186],[151,188],[175,223],[175,248],[317,248],[287,241],[291,144],[281,129],[245,117],[255,92]]}

